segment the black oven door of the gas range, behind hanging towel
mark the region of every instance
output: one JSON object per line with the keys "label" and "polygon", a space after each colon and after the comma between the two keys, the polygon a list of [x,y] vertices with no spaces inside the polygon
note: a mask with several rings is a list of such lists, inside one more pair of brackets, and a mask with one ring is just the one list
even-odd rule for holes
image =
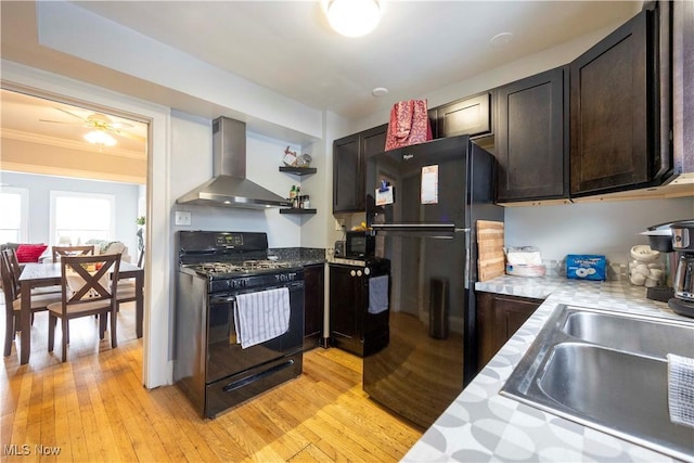
{"label": "black oven door of the gas range, behind hanging towel", "polygon": [[[290,290],[290,329],[283,335],[242,349],[236,344],[234,304],[237,294],[259,290],[234,291],[209,296],[206,383],[250,371],[301,349],[304,337],[304,282],[287,284]],[[272,290],[267,287],[264,290]]]}

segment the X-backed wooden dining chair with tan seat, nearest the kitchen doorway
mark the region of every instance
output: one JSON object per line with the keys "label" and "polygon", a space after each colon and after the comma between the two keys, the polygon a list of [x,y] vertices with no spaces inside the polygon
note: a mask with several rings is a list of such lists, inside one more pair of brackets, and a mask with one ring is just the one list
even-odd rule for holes
{"label": "X-backed wooden dining chair with tan seat, nearest the kitchen doorway", "polygon": [[[61,319],[62,361],[67,360],[69,320],[99,316],[99,338],[103,339],[106,321],[111,319],[111,347],[117,347],[116,292],[120,271],[120,254],[99,256],[62,256],[60,303],[50,304],[48,322],[48,351],[53,351],[55,325]],[[111,316],[111,317],[108,317]]]}

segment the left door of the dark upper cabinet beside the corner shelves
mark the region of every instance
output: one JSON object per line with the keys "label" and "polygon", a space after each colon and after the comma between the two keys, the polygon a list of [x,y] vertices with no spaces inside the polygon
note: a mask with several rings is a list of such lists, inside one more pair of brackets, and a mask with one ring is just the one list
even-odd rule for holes
{"label": "left door of the dark upper cabinet beside the corner shelves", "polygon": [[360,138],[356,133],[333,142],[333,213],[363,209],[363,193],[357,194],[363,177]]}

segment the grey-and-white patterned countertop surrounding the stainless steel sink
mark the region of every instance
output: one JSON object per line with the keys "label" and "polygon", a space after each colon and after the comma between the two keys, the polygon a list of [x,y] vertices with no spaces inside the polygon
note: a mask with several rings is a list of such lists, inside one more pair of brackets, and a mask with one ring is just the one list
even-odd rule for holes
{"label": "grey-and-white patterned countertop surrounding the stainless steel sink", "polygon": [[545,301],[426,430],[403,461],[673,461],[663,453],[500,396],[499,390],[557,305],[690,319],[672,312],[667,303],[646,299],[644,287],[625,281],[504,275],[476,283],[475,290]]}

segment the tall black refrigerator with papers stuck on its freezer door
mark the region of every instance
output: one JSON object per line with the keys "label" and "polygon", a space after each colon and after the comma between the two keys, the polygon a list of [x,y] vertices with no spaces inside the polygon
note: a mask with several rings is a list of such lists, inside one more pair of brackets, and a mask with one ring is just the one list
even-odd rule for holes
{"label": "tall black refrigerator with papers stuck on its freezer door", "polygon": [[493,156],[452,137],[367,158],[367,222],[390,260],[388,342],[365,356],[369,396],[430,426],[476,374],[477,220],[493,204]]}

